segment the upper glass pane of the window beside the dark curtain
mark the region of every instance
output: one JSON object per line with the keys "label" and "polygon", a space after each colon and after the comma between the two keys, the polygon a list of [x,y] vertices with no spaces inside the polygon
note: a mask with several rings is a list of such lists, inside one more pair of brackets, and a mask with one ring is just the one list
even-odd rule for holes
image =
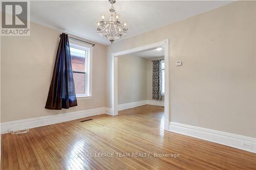
{"label": "upper glass pane of the window beside the dark curtain", "polygon": [[75,71],[86,70],[86,50],[70,47],[72,69]]}

